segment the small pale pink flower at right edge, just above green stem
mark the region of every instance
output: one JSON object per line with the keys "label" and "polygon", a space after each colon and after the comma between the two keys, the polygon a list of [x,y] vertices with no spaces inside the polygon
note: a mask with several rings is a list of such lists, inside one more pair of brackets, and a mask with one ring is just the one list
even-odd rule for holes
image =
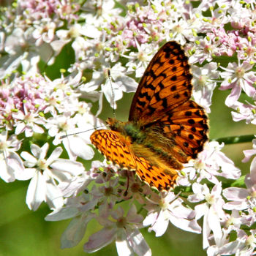
{"label": "small pale pink flower at right edge, just above green stem", "polygon": [[241,102],[235,102],[232,106],[237,112],[232,111],[233,121],[245,120],[246,124],[256,124],[256,106],[250,103],[243,104]]}

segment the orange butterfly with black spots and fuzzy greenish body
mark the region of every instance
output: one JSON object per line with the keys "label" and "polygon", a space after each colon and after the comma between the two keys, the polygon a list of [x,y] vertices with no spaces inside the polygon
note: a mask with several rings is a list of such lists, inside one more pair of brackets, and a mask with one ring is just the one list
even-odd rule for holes
{"label": "orange butterfly with black spots and fuzzy greenish body", "polygon": [[168,190],[208,140],[208,117],[191,94],[188,58],[181,45],[167,42],[140,80],[128,121],[108,118],[110,129],[94,131],[91,143],[113,164],[135,170],[150,187]]}

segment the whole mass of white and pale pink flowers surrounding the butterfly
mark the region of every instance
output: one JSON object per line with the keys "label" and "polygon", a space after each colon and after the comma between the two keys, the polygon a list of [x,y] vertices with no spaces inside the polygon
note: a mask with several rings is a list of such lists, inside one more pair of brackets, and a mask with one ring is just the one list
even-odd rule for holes
{"label": "whole mass of white and pale pink flowers surrounding the butterfly", "polygon": [[[47,203],[46,220],[72,219],[62,248],[76,246],[94,219],[102,228],[85,252],[115,241],[118,255],[149,256],[140,229],[162,236],[170,222],[203,233],[208,256],[255,255],[256,157],[243,177],[224,144],[208,142],[178,173],[176,188],[158,192],[135,172],[91,161],[89,139],[104,127],[103,99],[118,111],[118,99],[136,90],[148,61],[171,40],[189,56],[197,103],[210,113],[218,86],[230,91],[233,121],[256,124],[255,7],[236,0],[17,0],[0,7],[0,177],[30,180],[26,204],[35,211]],[[244,161],[256,154],[252,143]]]}

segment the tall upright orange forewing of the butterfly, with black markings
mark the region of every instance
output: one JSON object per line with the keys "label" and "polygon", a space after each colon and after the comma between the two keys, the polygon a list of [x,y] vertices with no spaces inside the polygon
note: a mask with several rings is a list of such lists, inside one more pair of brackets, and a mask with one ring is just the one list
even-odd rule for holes
{"label": "tall upright orange forewing of the butterfly, with black markings", "polygon": [[129,121],[148,124],[178,105],[192,92],[188,58],[177,42],[167,42],[148,64],[132,100]]}

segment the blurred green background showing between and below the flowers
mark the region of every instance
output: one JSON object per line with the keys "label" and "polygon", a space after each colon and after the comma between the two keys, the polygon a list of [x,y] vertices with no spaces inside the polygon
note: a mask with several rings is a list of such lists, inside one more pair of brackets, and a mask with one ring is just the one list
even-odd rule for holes
{"label": "blurred green background showing between and below the flowers", "polygon": [[[224,105],[225,97],[229,91],[214,91],[213,104],[210,117],[210,137],[222,138],[231,135],[252,134],[252,125],[244,124],[244,121],[235,123],[230,116],[230,109]],[[118,102],[116,110],[117,118],[127,116],[129,113],[129,102],[133,94],[125,94],[124,99]],[[104,102],[104,113],[102,118],[112,116],[108,102]],[[225,146],[224,152],[233,159],[243,173],[249,172],[249,163],[241,163],[244,158],[242,151],[252,148],[252,143],[241,143]],[[61,222],[45,222],[44,218],[50,213],[48,206],[42,204],[39,210],[29,211],[27,208],[26,189],[29,181],[15,181],[10,184],[0,180],[0,256],[66,256],[66,255],[89,255],[83,252],[83,244],[88,236],[84,237],[80,244],[72,249],[60,249],[60,238],[69,220]],[[88,234],[95,233],[100,227],[96,222],[89,225]],[[206,255],[202,249],[202,235],[188,233],[179,230],[169,224],[167,233],[156,238],[154,232],[148,233],[142,230],[148,245],[151,247],[152,255]],[[117,255],[114,243],[106,246],[98,255]]]}

